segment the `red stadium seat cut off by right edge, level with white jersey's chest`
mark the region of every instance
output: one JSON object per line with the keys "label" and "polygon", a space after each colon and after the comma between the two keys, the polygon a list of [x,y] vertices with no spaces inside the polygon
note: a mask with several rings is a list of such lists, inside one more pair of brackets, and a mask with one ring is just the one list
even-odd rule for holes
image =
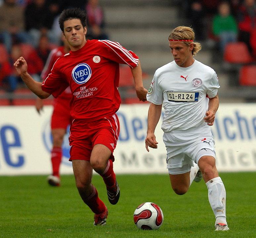
{"label": "red stadium seat cut off by right edge, level with white jersey's chest", "polygon": [[245,65],[239,72],[239,84],[243,86],[256,86],[256,65]]}

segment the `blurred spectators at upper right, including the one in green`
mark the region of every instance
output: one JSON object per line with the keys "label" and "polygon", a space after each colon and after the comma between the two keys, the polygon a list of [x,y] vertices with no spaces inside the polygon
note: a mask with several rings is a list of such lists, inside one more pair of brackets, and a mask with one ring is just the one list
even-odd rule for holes
{"label": "blurred spectators at upper right, including the one in green", "polygon": [[229,42],[244,42],[256,58],[255,0],[185,0],[183,7],[197,40],[215,40],[222,53]]}

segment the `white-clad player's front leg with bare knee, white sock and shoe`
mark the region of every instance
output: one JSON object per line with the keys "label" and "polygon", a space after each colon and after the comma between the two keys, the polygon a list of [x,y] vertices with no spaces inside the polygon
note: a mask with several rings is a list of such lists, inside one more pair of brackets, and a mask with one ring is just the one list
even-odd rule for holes
{"label": "white-clad player's front leg with bare knee, white sock and shoe", "polygon": [[215,215],[215,227],[221,225],[220,229],[228,230],[226,221],[226,189],[219,177],[213,156],[202,156],[198,161],[203,179],[208,188],[208,199]]}

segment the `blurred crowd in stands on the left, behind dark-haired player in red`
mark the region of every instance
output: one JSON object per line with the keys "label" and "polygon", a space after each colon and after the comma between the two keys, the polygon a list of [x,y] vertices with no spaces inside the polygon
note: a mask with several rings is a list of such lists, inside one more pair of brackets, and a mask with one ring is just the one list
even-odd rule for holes
{"label": "blurred crowd in stands on the left, behind dark-haired player in red", "polygon": [[62,44],[59,15],[73,7],[87,13],[87,39],[108,39],[98,0],[0,0],[0,89],[14,92],[22,83],[13,67],[21,56],[28,73],[41,80],[50,51]]}

